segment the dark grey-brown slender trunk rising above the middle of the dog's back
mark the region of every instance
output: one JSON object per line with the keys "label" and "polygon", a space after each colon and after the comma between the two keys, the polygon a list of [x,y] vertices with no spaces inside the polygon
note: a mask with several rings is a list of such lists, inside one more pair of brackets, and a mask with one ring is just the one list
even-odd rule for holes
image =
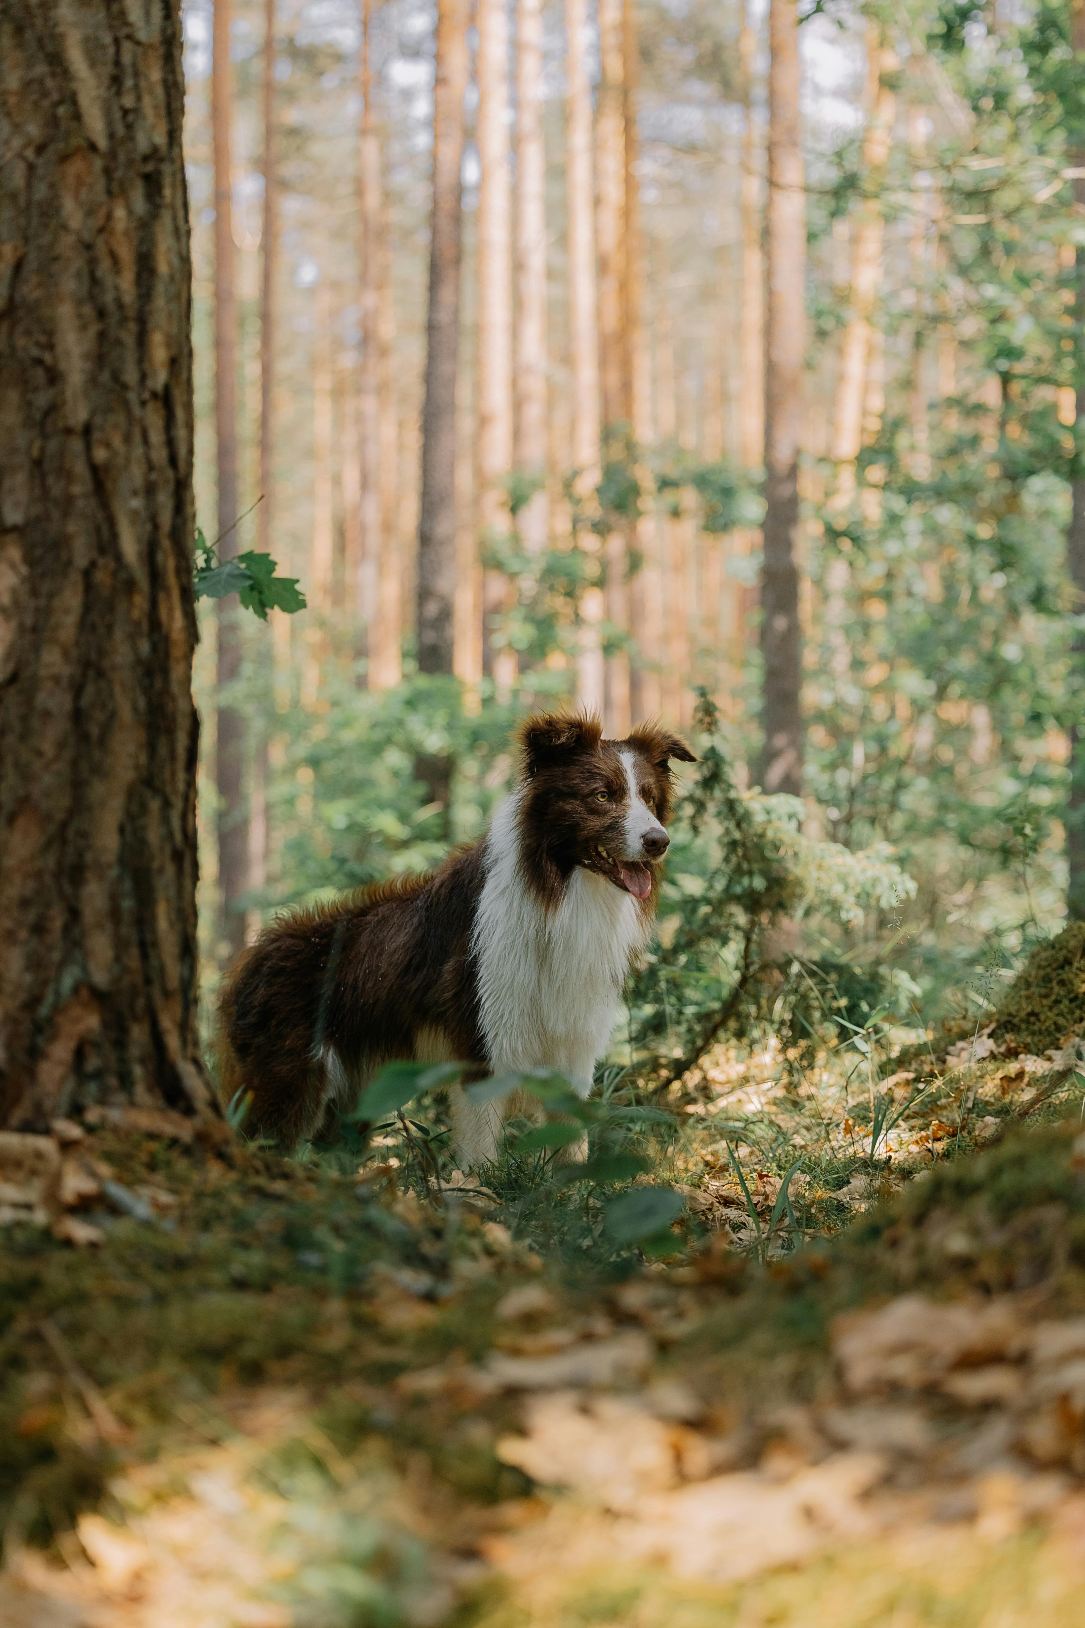
{"label": "dark grey-brown slender trunk rising above the middle of the dog's back", "polygon": [[418,669],[452,672],[455,596],[455,363],[460,332],[460,161],[465,0],[439,0],[433,91],[433,225],[418,518]]}

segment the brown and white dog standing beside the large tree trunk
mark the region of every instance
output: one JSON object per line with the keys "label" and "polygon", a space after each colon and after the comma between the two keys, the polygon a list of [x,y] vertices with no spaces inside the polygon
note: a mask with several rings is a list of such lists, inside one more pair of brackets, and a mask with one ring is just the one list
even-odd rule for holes
{"label": "brown and white dog standing beside the large tree trunk", "polygon": [[[646,946],[667,851],[669,760],[656,726],[604,741],[594,718],[521,729],[519,786],[481,842],[412,876],[265,928],[221,1003],[223,1086],[246,1130],[294,1144],[353,1107],[386,1061],[465,1061],[477,1076],[556,1070],[592,1086],[621,987]],[[496,1156],[516,1097],[454,1092],[460,1158]]]}

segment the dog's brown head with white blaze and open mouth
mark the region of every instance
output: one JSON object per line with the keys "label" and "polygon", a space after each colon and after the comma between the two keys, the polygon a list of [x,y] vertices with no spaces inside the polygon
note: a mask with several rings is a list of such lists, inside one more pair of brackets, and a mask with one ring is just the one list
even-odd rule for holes
{"label": "dog's brown head with white blaze and open mouth", "polygon": [[561,713],[521,728],[525,858],[560,877],[579,864],[646,900],[670,843],[670,760],[696,759],[659,724],[641,724],[625,741],[602,734],[597,718]]}

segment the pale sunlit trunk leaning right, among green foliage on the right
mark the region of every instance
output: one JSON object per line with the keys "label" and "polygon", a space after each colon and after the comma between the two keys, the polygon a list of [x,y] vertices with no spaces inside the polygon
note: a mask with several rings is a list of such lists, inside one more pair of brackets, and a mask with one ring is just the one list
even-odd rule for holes
{"label": "pale sunlit trunk leaning right, among green foliage on the right", "polygon": [[862,202],[852,231],[851,300],[841,345],[831,457],[836,462],[833,503],[846,506],[856,488],[856,459],[862,446],[864,400],[875,355],[872,316],[882,275],[882,184],[888,160],[896,96],[887,73],[896,65],[878,23],[867,24],[867,129],[862,142]]}

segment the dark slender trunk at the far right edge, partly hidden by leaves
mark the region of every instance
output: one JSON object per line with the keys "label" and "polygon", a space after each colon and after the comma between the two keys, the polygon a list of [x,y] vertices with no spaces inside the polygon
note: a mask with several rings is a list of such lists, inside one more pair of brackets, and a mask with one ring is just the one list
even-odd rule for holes
{"label": "dark slender trunk at the far right edge, partly hidden by leaves", "polygon": [[[1074,3],[1074,50],[1080,60],[1085,54],[1085,0]],[[1085,150],[1074,155],[1075,168],[1085,168]],[[1085,205],[1085,179],[1074,181],[1074,197],[1078,205]],[[1085,256],[1077,251],[1077,443],[1085,444]],[[1078,459],[1082,453],[1078,451]],[[1078,617],[1085,612],[1085,480],[1072,482],[1070,526],[1065,537],[1065,563],[1074,584],[1074,597]],[[1085,632],[1077,627],[1070,643],[1070,659],[1074,663],[1075,711],[1070,724],[1070,794],[1065,812],[1065,856],[1067,856],[1067,913],[1074,921],[1085,921],[1085,710],[1082,694],[1085,690]]]}

